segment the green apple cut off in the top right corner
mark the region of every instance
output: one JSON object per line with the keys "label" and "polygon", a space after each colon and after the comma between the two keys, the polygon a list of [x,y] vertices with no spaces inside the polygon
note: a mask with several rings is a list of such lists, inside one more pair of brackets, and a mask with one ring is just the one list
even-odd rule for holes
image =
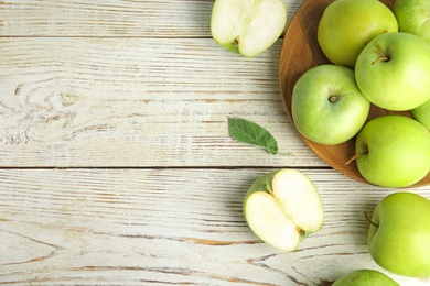
{"label": "green apple cut off in the top right corner", "polygon": [[429,0],[397,0],[394,13],[399,31],[421,36],[430,44]]}

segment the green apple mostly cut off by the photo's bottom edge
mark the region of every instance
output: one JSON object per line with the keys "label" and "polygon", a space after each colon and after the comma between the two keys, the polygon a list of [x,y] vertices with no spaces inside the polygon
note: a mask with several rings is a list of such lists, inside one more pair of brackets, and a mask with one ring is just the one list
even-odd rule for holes
{"label": "green apple mostly cut off by the photo's bottom edge", "polygon": [[381,272],[357,270],[342,276],[332,286],[400,286],[400,284]]}

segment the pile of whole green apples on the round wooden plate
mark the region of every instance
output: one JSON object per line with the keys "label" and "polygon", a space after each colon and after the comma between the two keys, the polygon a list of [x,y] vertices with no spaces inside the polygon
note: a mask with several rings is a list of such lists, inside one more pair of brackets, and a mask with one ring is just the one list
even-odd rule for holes
{"label": "pile of whole green apples on the round wooden plate", "polygon": [[[390,10],[377,0],[336,0],[316,37],[331,64],[294,85],[299,132],[326,145],[355,140],[353,160],[374,185],[420,182],[430,170],[430,1],[397,0]],[[370,118],[372,105],[389,112]]]}

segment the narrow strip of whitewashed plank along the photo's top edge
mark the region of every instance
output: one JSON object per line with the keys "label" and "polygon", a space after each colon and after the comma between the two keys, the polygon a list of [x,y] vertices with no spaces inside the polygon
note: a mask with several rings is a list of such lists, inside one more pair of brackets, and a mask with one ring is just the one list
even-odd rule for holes
{"label": "narrow strip of whitewashed plank along the photo's top edge", "polygon": [[[284,0],[288,18],[302,1]],[[211,36],[211,0],[0,1],[2,36]]]}

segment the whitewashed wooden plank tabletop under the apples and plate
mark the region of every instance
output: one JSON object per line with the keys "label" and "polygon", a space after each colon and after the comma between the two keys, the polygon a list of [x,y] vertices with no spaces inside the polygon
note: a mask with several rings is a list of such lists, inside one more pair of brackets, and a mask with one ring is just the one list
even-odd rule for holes
{"label": "whitewashed wooden plank tabletop under the apples and plate", "polygon": [[[284,2],[290,21],[301,1]],[[282,37],[233,54],[211,37],[212,6],[0,1],[0,284],[319,285],[380,271],[363,212],[397,190],[322,162],[282,103]],[[267,128],[283,154],[230,139],[228,117]],[[241,215],[250,184],[281,167],[307,174],[325,209],[294,253]]]}

